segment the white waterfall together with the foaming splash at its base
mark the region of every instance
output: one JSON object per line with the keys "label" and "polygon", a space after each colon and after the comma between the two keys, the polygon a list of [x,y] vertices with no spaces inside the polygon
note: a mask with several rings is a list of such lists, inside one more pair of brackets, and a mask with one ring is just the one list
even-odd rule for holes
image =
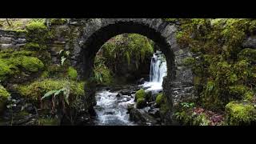
{"label": "white waterfall together with the foaming splash at its base", "polygon": [[153,54],[150,63],[150,82],[145,82],[142,86],[146,91],[162,90],[162,81],[167,74],[166,58],[162,52],[157,51]]}

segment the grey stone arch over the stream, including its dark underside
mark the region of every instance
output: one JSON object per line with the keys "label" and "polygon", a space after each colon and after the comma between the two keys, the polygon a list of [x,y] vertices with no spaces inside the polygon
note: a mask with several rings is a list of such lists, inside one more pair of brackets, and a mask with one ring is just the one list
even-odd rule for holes
{"label": "grey stone arch over the stream, including its dark underside", "polygon": [[[191,72],[186,73],[181,64],[182,58],[190,56],[188,50],[181,50],[175,39],[177,27],[161,18],[91,18],[83,23],[78,38],[74,59],[82,78],[90,78],[94,66],[94,57],[101,46],[110,38],[124,33],[142,34],[157,42],[166,56],[167,76],[164,78],[163,92],[167,96],[169,107],[173,106],[174,88],[191,84]],[[86,99],[92,99],[87,94]],[[88,102],[88,101],[87,101]],[[89,103],[86,104],[92,107]],[[170,113],[171,114],[171,113]],[[170,116],[167,116],[170,118]]]}

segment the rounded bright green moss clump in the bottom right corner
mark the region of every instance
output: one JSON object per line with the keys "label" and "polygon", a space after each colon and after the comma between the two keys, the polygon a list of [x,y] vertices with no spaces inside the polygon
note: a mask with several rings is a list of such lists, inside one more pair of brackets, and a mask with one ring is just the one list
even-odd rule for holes
{"label": "rounded bright green moss clump in the bottom right corner", "polygon": [[226,105],[226,122],[232,126],[256,122],[256,110],[249,103],[230,102]]}

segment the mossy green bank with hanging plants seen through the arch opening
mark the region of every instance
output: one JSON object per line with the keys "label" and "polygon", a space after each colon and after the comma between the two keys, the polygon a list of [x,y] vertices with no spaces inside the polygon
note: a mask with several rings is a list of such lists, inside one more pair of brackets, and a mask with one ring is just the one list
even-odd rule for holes
{"label": "mossy green bank with hanging plants seen through the arch opening", "polygon": [[153,53],[154,43],[140,34],[120,34],[102,46],[106,66],[116,74],[120,73],[118,66],[122,64],[127,64],[130,71],[138,70]]}

